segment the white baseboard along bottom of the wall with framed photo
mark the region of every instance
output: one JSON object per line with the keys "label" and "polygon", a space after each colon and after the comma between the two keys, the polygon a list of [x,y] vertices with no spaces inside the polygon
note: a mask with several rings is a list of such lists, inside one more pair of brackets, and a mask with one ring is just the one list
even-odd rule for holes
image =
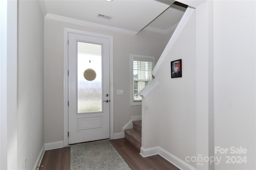
{"label": "white baseboard along bottom of the wall with framed photo", "polygon": [[174,164],[177,168],[181,170],[196,170],[193,166],[188,164],[187,162],[181,160],[180,158],[174,156],[170,152],[162,149],[161,147],[152,147],[148,149],[144,149],[143,147],[140,148],[140,155],[143,156],[143,158],[148,156],[153,156],[159,154],[164,159],[168,160],[172,164]]}

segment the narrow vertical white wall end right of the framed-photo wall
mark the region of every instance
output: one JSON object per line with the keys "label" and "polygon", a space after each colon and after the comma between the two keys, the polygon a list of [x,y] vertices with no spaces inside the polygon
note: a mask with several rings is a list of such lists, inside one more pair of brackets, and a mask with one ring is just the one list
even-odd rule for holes
{"label": "narrow vertical white wall end right of the framed-photo wall", "polygon": [[[214,156],[212,1],[196,7],[196,156]],[[191,161],[191,160],[190,160]],[[196,169],[214,169],[211,162],[196,161]]]}

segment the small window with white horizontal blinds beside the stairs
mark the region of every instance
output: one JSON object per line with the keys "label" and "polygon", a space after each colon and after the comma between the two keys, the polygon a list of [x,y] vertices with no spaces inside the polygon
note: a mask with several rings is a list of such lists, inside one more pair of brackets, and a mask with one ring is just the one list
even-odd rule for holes
{"label": "small window with white horizontal blinds beside the stairs", "polygon": [[[154,67],[154,57],[144,55],[131,55],[132,65],[132,105],[141,104],[142,98],[138,92],[142,90],[152,80],[152,70]],[[135,102],[140,102],[135,104]]]}

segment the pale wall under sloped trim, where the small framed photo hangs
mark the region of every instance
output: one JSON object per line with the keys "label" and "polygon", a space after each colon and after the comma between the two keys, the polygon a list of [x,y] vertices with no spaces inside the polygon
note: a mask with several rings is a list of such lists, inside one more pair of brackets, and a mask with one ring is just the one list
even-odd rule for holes
{"label": "pale wall under sloped trim, where the small framed photo hangs", "polygon": [[[196,154],[195,12],[167,56],[155,75],[160,80],[158,146],[185,160]],[[170,62],[177,59],[182,59],[182,78],[170,78]]]}

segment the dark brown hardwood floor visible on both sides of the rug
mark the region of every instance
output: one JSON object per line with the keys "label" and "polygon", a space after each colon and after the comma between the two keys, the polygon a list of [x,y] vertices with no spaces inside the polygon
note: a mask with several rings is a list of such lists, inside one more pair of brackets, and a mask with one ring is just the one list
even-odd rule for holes
{"label": "dark brown hardwood floor visible on both sides of the rug", "polygon": [[[159,155],[143,158],[140,150],[126,139],[110,140],[132,170],[178,170],[176,166]],[[46,150],[38,170],[70,170],[70,147]]]}

